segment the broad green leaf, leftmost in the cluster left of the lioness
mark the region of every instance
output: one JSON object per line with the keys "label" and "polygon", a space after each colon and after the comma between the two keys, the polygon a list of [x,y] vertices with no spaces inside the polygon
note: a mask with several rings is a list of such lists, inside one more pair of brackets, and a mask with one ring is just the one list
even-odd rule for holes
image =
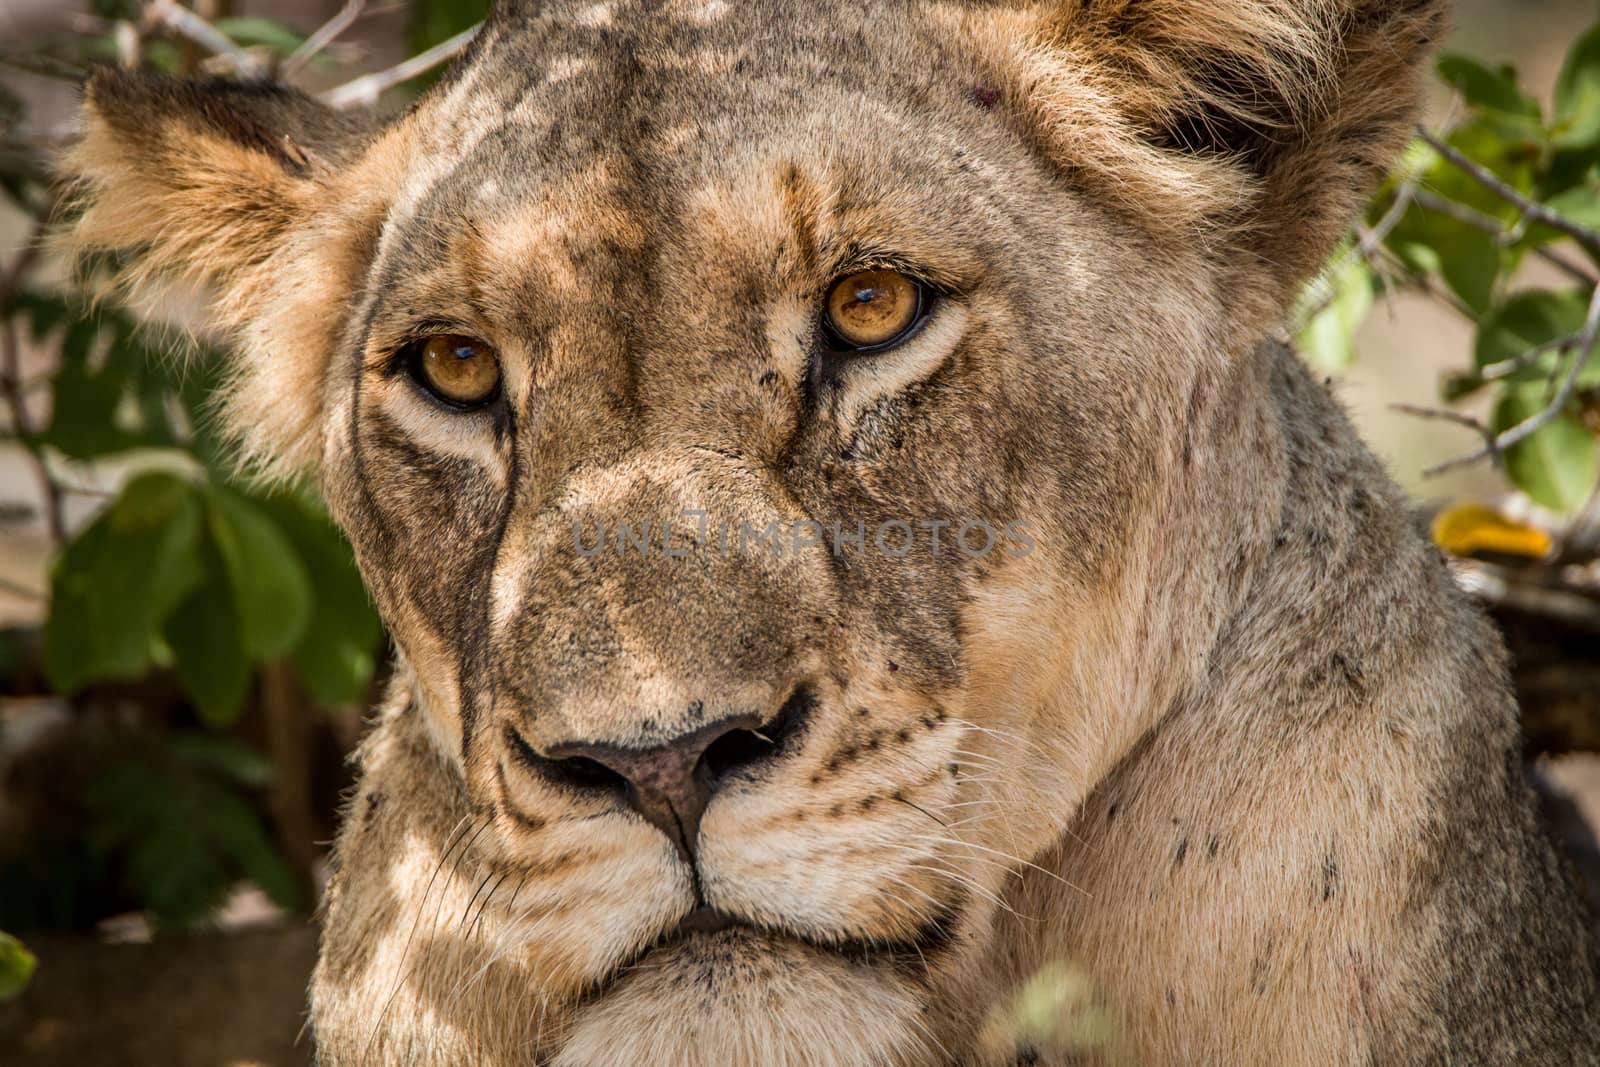
{"label": "broad green leaf, leftmost in the cluster left of the lioness", "polygon": [[150,665],[168,614],[200,582],[200,504],[170,474],[130,482],[51,573],[45,670],[62,693]]}

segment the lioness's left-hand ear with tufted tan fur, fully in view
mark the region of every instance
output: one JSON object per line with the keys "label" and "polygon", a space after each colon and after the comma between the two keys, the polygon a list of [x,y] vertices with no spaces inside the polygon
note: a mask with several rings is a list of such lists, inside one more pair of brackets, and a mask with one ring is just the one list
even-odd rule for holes
{"label": "lioness's left-hand ear with tufted tan fur, fully in view", "polygon": [[322,373],[357,235],[341,166],[370,141],[358,122],[272,85],[96,75],[83,136],[62,163],[70,251],[109,254],[134,299],[208,290],[206,325],[235,349],[224,422],[248,461],[309,469]]}

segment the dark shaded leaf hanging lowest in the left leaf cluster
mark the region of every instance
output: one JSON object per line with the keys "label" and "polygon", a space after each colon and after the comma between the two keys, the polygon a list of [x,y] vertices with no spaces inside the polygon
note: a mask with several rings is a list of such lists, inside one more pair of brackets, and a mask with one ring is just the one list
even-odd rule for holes
{"label": "dark shaded leaf hanging lowest in the left leaf cluster", "polygon": [[208,726],[238,720],[250,693],[251,664],[240,635],[234,590],[216,545],[202,550],[206,576],[178,605],[163,635],[173,649],[173,669]]}

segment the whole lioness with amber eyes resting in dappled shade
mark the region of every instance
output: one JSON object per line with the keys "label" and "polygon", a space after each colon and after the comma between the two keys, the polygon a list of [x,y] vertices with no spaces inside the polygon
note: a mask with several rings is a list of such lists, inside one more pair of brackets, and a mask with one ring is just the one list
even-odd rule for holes
{"label": "whole lioness with amber eyes resting in dappled shade", "polygon": [[98,77],[77,246],[211,288],[402,654],[318,1061],[1600,1062],[1501,643],[1277,334],[1442,8],[506,3],[386,123]]}

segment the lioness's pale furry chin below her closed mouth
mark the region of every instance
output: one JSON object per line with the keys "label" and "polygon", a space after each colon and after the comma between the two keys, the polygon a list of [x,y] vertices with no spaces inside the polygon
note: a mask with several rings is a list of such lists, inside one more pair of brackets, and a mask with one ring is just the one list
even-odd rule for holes
{"label": "lioness's pale furry chin below her closed mouth", "polygon": [[690,934],[573,1019],[554,1067],[885,1067],[922,1062],[910,990],[883,968],[749,928]]}

